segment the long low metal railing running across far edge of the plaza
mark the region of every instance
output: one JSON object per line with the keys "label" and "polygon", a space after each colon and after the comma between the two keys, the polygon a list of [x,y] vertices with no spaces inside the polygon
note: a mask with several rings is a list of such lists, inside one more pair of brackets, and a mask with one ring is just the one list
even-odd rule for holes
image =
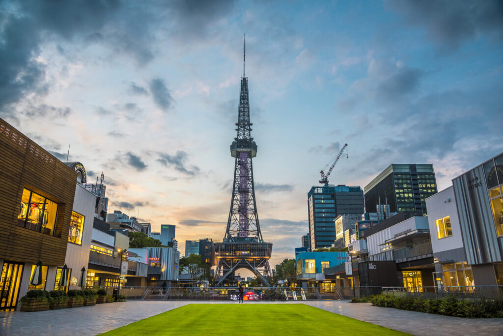
{"label": "long low metal railing running across far edge of the plaza", "polygon": [[[97,288],[93,288],[97,289]],[[99,289],[99,288],[98,288]],[[115,288],[103,288],[113,294]],[[272,293],[285,294],[287,300],[350,300],[353,297],[385,293],[393,296],[424,299],[443,299],[455,295],[459,300],[473,303],[483,300],[501,300],[503,286],[456,286],[456,287],[307,287],[307,288],[244,288],[249,300],[265,299]],[[238,294],[237,287],[122,287],[119,294],[128,300],[232,300]],[[502,306],[503,309],[503,306]]]}

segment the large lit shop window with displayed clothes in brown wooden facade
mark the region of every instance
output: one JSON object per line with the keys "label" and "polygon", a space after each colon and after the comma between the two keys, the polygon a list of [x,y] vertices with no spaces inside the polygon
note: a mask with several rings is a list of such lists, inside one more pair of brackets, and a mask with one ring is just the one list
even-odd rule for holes
{"label": "large lit shop window with displayed clothes in brown wooden facade", "polygon": [[28,189],[23,189],[19,205],[18,225],[53,235],[58,205]]}

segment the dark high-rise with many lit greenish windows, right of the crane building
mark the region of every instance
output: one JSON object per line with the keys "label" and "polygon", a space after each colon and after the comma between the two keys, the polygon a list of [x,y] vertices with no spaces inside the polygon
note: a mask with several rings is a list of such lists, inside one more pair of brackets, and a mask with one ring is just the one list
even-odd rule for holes
{"label": "dark high-rise with many lit greenish windows, right of the crane building", "polygon": [[386,200],[390,213],[426,215],[425,199],[435,193],[433,165],[391,164],[365,187],[365,210],[380,213],[381,200]]}

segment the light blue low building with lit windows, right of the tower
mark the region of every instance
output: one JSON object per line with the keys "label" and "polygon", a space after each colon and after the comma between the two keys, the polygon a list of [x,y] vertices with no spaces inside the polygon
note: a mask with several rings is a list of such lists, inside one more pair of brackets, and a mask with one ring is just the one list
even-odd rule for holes
{"label": "light blue low building with lit windows, right of the tower", "polygon": [[297,281],[302,287],[330,286],[331,280],[325,280],[323,268],[334,267],[349,261],[346,252],[301,252],[295,257],[297,261]]}

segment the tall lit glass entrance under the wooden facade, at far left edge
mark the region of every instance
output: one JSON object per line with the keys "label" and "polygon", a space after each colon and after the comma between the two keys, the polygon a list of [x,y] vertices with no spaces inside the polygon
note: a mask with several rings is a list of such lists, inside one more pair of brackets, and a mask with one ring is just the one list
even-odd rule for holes
{"label": "tall lit glass entrance under the wooden facade, at far left edge", "polygon": [[4,261],[2,276],[0,277],[0,309],[16,308],[22,275],[22,263]]}

